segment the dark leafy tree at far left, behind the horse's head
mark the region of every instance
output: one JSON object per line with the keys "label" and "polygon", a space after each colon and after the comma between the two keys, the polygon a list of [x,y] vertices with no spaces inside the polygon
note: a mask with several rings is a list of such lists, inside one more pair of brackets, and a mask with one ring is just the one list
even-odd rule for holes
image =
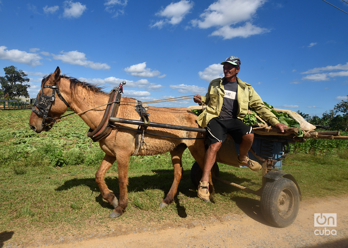
{"label": "dark leafy tree at far left, behind the horse's head", "polygon": [[15,97],[29,97],[28,87],[29,78],[22,70],[17,70],[17,67],[9,66],[3,68],[5,71],[5,77],[0,77],[1,88],[4,95],[7,95],[10,99]]}

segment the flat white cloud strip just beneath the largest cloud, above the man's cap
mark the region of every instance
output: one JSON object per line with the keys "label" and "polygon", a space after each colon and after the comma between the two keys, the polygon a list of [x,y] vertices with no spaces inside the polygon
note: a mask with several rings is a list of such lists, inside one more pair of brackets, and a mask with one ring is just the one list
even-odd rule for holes
{"label": "flat white cloud strip just beneath the largest cloud, above the man's cap", "polygon": [[247,38],[251,35],[255,34],[263,34],[270,32],[267,28],[261,28],[256,27],[255,25],[251,23],[246,23],[244,26],[239,26],[236,28],[232,28],[230,26],[223,26],[213,33],[211,33],[212,36],[222,36],[224,40],[226,39],[232,39],[235,37],[243,37]]}

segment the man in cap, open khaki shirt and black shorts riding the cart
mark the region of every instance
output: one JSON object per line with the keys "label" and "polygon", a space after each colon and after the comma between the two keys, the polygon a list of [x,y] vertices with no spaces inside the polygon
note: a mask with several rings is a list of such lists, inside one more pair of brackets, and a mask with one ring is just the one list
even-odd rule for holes
{"label": "man in cap, open khaki shirt and black shorts riding the cart", "polygon": [[194,102],[207,105],[197,118],[197,123],[207,130],[208,149],[197,193],[197,196],[205,202],[209,202],[209,172],[227,134],[230,134],[239,144],[239,155],[236,158],[239,165],[248,166],[253,171],[259,171],[262,168],[258,162],[247,157],[254,140],[252,128],[242,121],[248,108],[254,109],[262,119],[280,129],[281,132],[284,132],[283,127],[287,127],[279,123],[254,88],[237,77],[240,70],[238,57],[228,57],[221,65],[223,65],[225,76],[211,81],[205,96],[195,95],[193,98]]}

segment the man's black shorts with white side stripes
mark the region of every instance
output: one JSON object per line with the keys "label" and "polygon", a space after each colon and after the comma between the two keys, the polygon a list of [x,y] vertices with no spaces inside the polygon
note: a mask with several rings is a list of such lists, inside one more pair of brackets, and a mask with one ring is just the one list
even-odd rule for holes
{"label": "man's black shorts with white side stripes", "polygon": [[219,120],[213,118],[208,122],[206,130],[205,139],[208,145],[216,142],[223,143],[227,134],[231,135],[237,144],[240,144],[243,135],[254,133],[252,127],[240,119]]}

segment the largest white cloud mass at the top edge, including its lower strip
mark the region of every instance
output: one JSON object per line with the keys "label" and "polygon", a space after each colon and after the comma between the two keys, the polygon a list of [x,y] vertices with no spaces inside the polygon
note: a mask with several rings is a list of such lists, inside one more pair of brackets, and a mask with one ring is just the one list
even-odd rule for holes
{"label": "largest white cloud mass at the top edge, including its lower strip", "polygon": [[[265,0],[218,0],[199,16],[200,19],[192,20],[191,24],[199,28],[218,27],[211,35],[222,36],[224,39],[270,32],[269,29],[251,23],[256,10],[264,2]],[[246,23],[236,26],[243,22]]]}

